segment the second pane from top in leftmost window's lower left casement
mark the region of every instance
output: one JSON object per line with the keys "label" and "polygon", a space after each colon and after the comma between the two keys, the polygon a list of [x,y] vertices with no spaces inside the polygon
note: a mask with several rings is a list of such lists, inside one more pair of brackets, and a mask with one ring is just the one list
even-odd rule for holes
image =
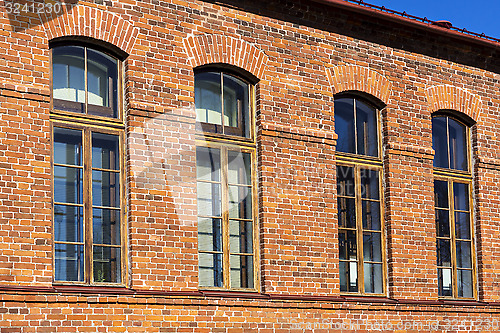
{"label": "second pane from top in leftmost window's lower left casement", "polygon": [[83,203],[82,169],[54,166],[54,201]]}

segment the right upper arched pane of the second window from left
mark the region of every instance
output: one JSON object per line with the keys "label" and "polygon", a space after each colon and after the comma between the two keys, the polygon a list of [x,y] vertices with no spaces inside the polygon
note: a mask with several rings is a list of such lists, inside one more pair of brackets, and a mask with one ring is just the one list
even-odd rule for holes
{"label": "right upper arched pane of the second window from left", "polygon": [[224,74],[224,126],[237,127],[235,134],[249,137],[248,84]]}

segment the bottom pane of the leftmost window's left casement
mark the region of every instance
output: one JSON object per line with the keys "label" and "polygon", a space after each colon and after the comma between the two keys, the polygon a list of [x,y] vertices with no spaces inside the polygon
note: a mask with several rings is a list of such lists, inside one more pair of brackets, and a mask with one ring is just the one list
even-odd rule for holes
{"label": "bottom pane of the leftmost window's left casement", "polygon": [[83,245],[55,244],[54,257],[56,281],[84,280]]}

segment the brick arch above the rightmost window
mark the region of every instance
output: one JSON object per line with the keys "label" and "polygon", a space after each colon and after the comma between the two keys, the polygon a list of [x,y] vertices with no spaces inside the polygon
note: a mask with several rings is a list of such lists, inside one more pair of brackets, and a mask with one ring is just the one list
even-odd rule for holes
{"label": "brick arch above the rightmost window", "polygon": [[465,89],[449,85],[433,86],[425,90],[430,112],[449,109],[462,112],[478,121],[483,103],[479,96]]}

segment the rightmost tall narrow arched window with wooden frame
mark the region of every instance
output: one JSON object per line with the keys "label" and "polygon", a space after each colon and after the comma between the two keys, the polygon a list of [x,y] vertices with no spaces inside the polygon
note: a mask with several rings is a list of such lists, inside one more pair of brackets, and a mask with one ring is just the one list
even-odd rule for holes
{"label": "rightmost tall narrow arched window with wooden frame", "polygon": [[447,114],[432,118],[439,296],[475,297],[469,127]]}

